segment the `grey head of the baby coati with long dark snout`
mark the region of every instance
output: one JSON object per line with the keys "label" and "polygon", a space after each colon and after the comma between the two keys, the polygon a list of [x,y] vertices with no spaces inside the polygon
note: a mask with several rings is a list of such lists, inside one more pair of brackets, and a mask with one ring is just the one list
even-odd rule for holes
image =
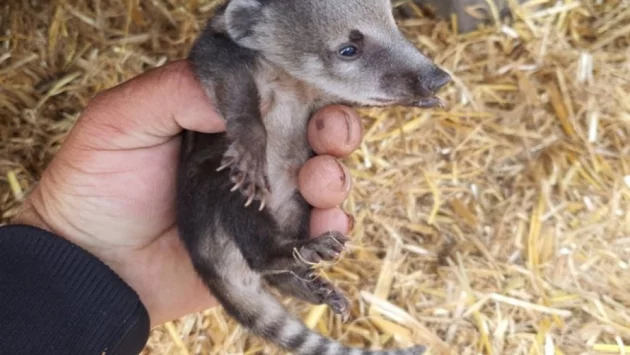
{"label": "grey head of the baby coati with long dark snout", "polygon": [[220,23],[241,46],[357,105],[433,107],[451,80],[400,32],[390,0],[231,0]]}

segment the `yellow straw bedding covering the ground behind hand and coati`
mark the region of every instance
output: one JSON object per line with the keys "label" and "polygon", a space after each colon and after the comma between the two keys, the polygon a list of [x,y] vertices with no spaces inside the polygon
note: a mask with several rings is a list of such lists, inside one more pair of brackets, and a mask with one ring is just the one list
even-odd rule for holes
{"label": "yellow straw bedding covering the ground behind hand and coati", "polygon": [[[215,5],[6,3],[2,222],[90,97],[184,56]],[[401,23],[453,74],[450,107],[362,111],[354,247],[325,270],[352,317],[287,301],[318,331],[432,354],[630,354],[630,3],[511,3],[512,25],[470,34]],[[143,352],[259,353],[280,352],[220,309],[155,329]]]}

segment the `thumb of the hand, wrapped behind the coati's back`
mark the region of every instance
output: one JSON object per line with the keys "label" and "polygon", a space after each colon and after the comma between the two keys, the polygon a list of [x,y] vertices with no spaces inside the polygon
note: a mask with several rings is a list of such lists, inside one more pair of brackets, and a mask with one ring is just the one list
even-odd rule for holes
{"label": "thumb of the hand, wrapped behind the coati's back", "polygon": [[182,129],[225,129],[223,119],[185,60],[148,71],[94,98],[77,130],[96,149],[137,149],[161,144]]}

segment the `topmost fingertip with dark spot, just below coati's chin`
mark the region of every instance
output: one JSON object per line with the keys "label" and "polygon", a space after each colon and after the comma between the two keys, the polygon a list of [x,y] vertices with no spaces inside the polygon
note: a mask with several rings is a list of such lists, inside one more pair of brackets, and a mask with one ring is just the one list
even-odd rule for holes
{"label": "topmost fingertip with dark spot, just below coati's chin", "polygon": [[348,156],[359,147],[362,136],[361,117],[347,106],[327,106],[308,125],[308,141],[317,154]]}

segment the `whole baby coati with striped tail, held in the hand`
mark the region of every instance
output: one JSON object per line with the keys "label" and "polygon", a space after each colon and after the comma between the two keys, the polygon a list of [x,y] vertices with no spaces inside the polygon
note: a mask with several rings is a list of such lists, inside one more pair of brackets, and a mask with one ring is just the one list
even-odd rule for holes
{"label": "whole baby coati with striped tail, held in the hand", "polygon": [[265,287],[348,316],[344,295],[313,269],[347,239],[309,238],[311,207],[296,181],[313,154],[307,122],[333,103],[434,107],[450,76],[398,30],[389,0],[232,0],[189,60],[227,127],[184,132],[178,171],[179,231],[212,294],[243,326],[297,354],[422,354],[346,348]]}

